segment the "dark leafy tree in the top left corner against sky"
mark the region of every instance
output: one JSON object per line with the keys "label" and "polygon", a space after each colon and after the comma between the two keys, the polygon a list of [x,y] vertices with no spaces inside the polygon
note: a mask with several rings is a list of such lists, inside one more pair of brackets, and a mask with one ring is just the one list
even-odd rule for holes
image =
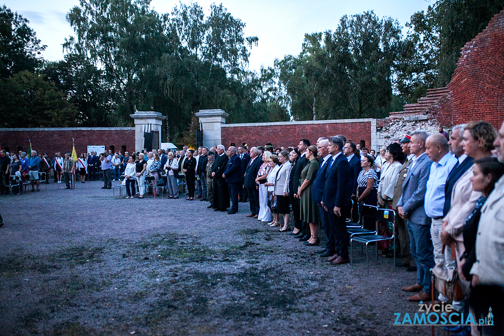
{"label": "dark leafy tree in the top left corner against sky", "polygon": [[24,70],[34,72],[42,63],[46,46],[40,45],[28,23],[5,5],[0,7],[0,79]]}

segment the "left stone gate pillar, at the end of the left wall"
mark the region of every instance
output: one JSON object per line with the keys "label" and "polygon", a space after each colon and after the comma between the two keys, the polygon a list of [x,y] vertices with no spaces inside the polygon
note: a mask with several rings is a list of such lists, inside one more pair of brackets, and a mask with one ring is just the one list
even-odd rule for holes
{"label": "left stone gate pillar, at the end of the left wall", "polygon": [[[166,117],[154,111],[135,111],[135,114],[130,114],[130,116],[135,120],[135,153],[144,149],[144,129],[154,132],[153,136],[156,136],[156,139],[152,139],[153,146],[156,145],[157,140],[156,147],[161,148],[161,126]],[[151,149],[147,148],[149,151]]]}

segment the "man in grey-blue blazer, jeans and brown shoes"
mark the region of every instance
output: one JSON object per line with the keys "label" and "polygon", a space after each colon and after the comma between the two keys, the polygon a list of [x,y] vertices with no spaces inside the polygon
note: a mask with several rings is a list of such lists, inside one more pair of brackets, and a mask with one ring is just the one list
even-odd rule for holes
{"label": "man in grey-blue blazer, jeans and brown shoes", "polygon": [[433,246],[430,235],[431,219],[424,209],[425,191],[432,162],[425,153],[428,133],[415,130],[411,133],[409,148],[414,154],[403,182],[403,192],[397,203],[397,212],[406,221],[410,237],[411,256],[417,266],[417,282],[402,288],[405,292],[418,292],[409,301],[427,301],[431,297],[430,268],[434,267]]}

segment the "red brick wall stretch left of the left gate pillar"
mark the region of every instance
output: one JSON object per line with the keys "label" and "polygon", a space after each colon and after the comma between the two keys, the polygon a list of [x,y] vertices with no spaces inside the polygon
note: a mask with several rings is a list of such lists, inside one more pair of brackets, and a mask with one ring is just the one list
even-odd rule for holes
{"label": "red brick wall stretch left of the left gate pillar", "polygon": [[35,151],[52,156],[55,152],[72,151],[72,138],[75,139],[75,150],[78,154],[85,153],[87,146],[105,146],[106,150],[114,146],[115,151],[120,151],[121,146],[126,146],[129,152],[135,151],[135,129],[0,129],[0,145],[4,149],[9,147],[14,152],[17,152],[18,146],[26,152],[30,139]]}

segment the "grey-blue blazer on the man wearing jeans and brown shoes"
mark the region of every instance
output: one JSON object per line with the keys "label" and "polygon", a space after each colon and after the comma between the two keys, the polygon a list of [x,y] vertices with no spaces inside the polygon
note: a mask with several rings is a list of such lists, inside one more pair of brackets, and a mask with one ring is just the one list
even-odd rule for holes
{"label": "grey-blue blazer on the man wearing jeans and brown shoes", "polygon": [[403,192],[397,206],[403,207],[403,211],[409,216],[408,220],[411,222],[420,225],[430,225],[431,219],[425,214],[423,202],[432,161],[429,160],[427,154],[422,154],[413,168],[411,168],[412,164],[413,162],[408,167],[408,172],[403,182]]}

